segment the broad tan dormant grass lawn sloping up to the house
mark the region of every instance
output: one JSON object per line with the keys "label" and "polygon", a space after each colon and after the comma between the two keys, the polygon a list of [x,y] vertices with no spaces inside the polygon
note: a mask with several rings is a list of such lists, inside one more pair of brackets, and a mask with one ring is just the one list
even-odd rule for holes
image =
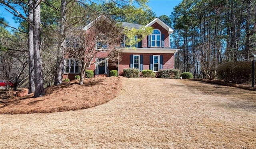
{"label": "broad tan dormant grass lawn sloping up to the house", "polygon": [[255,91],[174,79],[122,82],[120,95],[90,109],[0,115],[0,148],[256,147]]}

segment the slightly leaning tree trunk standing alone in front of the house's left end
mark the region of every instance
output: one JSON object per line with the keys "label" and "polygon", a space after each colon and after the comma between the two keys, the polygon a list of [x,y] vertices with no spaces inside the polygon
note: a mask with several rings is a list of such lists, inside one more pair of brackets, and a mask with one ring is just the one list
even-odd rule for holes
{"label": "slightly leaning tree trunk standing alone in front of the house's left end", "polygon": [[64,50],[66,47],[66,34],[65,34],[65,22],[66,22],[66,7],[67,7],[67,1],[62,0],[61,6],[60,6],[60,14],[61,14],[61,20],[60,20],[60,41],[59,41],[59,47],[58,47],[58,55],[57,55],[57,64],[56,64],[56,73],[55,73],[55,81],[54,85],[59,85],[62,83],[62,73],[63,73],[63,60],[64,60]]}

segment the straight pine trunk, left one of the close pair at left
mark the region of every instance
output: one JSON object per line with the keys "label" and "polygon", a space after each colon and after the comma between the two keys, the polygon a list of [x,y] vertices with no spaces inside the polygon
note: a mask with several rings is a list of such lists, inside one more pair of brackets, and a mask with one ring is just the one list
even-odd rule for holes
{"label": "straight pine trunk, left one of the close pair at left", "polygon": [[[33,22],[33,0],[28,0],[28,20]],[[28,93],[35,91],[35,72],[34,72],[34,43],[33,43],[33,26],[28,22],[28,60],[29,60],[29,80]]]}

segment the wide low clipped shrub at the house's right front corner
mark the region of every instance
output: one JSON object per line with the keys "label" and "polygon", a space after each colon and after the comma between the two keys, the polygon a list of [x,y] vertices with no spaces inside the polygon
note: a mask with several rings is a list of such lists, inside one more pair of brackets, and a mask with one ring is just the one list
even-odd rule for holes
{"label": "wide low clipped shrub at the house's right front corner", "polygon": [[156,74],[156,77],[166,79],[178,79],[180,78],[180,72],[178,70],[159,70]]}

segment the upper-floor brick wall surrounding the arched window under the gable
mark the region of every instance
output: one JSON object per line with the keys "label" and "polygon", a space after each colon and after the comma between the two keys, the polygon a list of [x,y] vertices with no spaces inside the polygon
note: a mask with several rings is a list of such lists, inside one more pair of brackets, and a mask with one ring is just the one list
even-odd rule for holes
{"label": "upper-floor brick wall surrounding the arched window under the gable", "polygon": [[[154,23],[151,27],[160,30],[161,34],[164,34],[164,48],[170,48],[170,36],[168,31],[158,23]],[[142,39],[142,48],[148,48],[148,37]]]}

